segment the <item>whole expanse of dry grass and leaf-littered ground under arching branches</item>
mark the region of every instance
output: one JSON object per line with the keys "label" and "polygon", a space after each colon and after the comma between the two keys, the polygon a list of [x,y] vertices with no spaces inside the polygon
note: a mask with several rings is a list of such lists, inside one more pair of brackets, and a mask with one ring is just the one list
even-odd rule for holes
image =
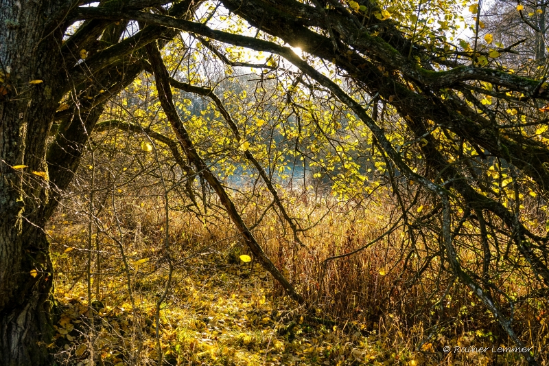
{"label": "whole expanse of dry grass and leaf-littered ground under arching branches", "polygon": [[[247,251],[226,218],[205,222],[172,211],[174,273],[158,329],[165,365],[523,364],[516,354],[443,352],[445,345],[512,343],[467,288],[448,286],[452,277],[436,258],[422,268],[422,253],[430,249],[421,241],[407,242],[402,229],[323,270],[327,258],[363,247],[386,231],[394,220],[391,203],[318,205],[292,195],[285,200],[292,217],[318,222],[301,237],[303,245],[272,211],[255,236],[314,314],[283,297],[257,264],[252,271],[240,262],[238,256]],[[86,216],[69,209],[49,228],[62,309],[51,347],[60,365],[159,364],[156,300],[168,276],[163,203],[126,197],[117,205],[120,228],[108,209],[100,218],[102,230],[93,235]],[[260,206],[258,201],[255,207]],[[246,209],[248,224],[259,216],[254,206]],[[474,261],[474,253],[461,255]],[[501,282],[509,293],[528,293],[518,274]],[[519,304],[515,319],[515,330],[529,347],[546,347],[549,319],[541,302]],[[546,356],[540,364],[548,365]]]}

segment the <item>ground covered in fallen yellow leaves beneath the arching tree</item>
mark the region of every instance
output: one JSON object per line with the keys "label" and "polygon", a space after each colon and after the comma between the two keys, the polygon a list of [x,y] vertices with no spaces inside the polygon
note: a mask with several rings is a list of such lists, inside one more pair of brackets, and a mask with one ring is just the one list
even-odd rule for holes
{"label": "ground covered in fallen yellow leaves beneath the arching tree", "polygon": [[[249,263],[220,268],[202,262],[174,274],[173,290],[161,306],[158,338],[158,275],[137,276],[133,304],[110,291],[93,303],[94,316],[86,306],[85,281],[60,284],[56,296],[64,311],[51,344],[58,365],[121,366],[138,358],[141,365],[158,365],[159,341],[164,365],[430,364],[424,356],[432,353],[430,343],[414,352],[384,336],[383,325],[366,330],[359,323],[323,319],[320,312],[307,315],[288,297],[273,295],[267,273],[259,264],[254,269],[250,273]],[[106,282],[121,284],[124,277]]]}

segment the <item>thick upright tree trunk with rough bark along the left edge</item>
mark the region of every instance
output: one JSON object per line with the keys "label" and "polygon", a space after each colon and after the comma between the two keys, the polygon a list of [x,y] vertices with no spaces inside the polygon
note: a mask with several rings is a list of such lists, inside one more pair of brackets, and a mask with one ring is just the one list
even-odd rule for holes
{"label": "thick upright tree trunk with rough bark along the left edge", "polygon": [[43,231],[47,217],[38,213],[48,201],[45,152],[66,80],[60,77],[58,49],[64,33],[60,20],[69,5],[66,0],[0,0],[2,366],[51,365],[46,345],[52,336],[53,268]]}

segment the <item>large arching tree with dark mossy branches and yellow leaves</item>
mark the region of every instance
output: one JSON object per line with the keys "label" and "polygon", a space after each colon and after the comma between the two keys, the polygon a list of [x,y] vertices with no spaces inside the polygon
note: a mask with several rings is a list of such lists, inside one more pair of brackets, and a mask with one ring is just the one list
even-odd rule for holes
{"label": "large arching tree with dark mossy branches and yellow leaves", "polygon": [[[207,10],[204,16],[196,15],[199,8]],[[288,138],[307,148],[296,156],[323,172],[334,172],[340,161],[334,181],[340,179],[342,197],[374,189],[362,172],[368,164],[379,170],[399,197],[408,240],[429,233],[440,243],[420,258],[422,265],[439,261],[441,271],[468,286],[522,347],[509,313],[513,299],[494,280],[505,262],[531,279],[532,297],[548,295],[549,238],[534,222],[546,218],[549,187],[549,107],[540,108],[549,100],[548,74],[545,66],[527,76],[509,70],[500,56],[512,49],[494,45],[491,34],[474,45],[452,44],[459,8],[451,1],[1,1],[0,364],[50,364],[54,269],[43,228],[106,102],[143,70],[154,74],[177,137],[174,155],[183,151],[185,166],[218,194],[259,262],[303,301],[262,252],[178,113],[172,87],[218,106],[231,141],[259,172],[299,240],[299,225],[286,214],[231,113],[211,89],[170,78],[161,49],[180,32],[231,67],[290,75],[294,84],[281,85],[279,93],[296,109],[297,128]],[[229,14],[208,25],[221,10]],[[237,34],[248,25],[250,36]],[[246,52],[233,55],[226,45],[274,56],[253,65]],[[309,91],[307,103],[304,94],[297,102],[296,89]],[[349,123],[324,124],[318,105],[347,109]],[[361,132],[362,146],[345,137]],[[331,146],[334,161],[314,161],[319,146]],[[369,151],[371,159],[356,163],[349,159],[353,149]],[[400,199],[410,194],[430,201],[429,209],[423,211],[416,198]],[[478,260],[460,258],[461,248],[478,253]],[[524,356],[536,364],[534,356]]]}

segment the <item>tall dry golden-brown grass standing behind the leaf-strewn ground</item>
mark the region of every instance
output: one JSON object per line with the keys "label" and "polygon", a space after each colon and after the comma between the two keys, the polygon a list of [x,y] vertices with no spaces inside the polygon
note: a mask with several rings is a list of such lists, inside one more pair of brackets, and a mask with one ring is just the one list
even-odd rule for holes
{"label": "tall dry golden-brown grass standing behind the leaf-strewn ground", "polygon": [[[495,356],[442,351],[445,345],[491,347],[512,343],[491,314],[478,304],[474,294],[454,282],[439,258],[433,258],[425,265],[423,253],[431,253],[437,243],[410,242],[402,227],[396,227],[364,250],[329,260],[362,248],[387,231],[395,220],[395,205],[388,198],[379,195],[366,205],[358,205],[340,203],[329,196],[320,199],[291,192],[281,192],[281,196],[290,216],[303,227],[310,226],[300,233],[301,243],[294,241],[287,223],[272,209],[264,214],[268,198],[257,195],[250,200],[246,194],[235,194],[233,198],[238,207],[245,207],[243,217],[248,225],[255,225],[261,218],[253,231],[255,237],[272,262],[314,309],[316,321],[324,319],[329,324],[338,324],[349,334],[367,335],[379,349],[394,350],[395,356],[390,358],[393,363],[387,364],[523,364],[518,354]],[[154,354],[154,336],[151,336],[154,334],[154,321],[151,320],[155,316],[154,299],[163,292],[168,275],[163,198],[153,194],[146,196],[143,192],[139,196],[122,193],[113,202],[114,206],[106,205],[97,217],[102,225],[99,230],[93,225],[90,232],[89,216],[76,213],[71,205],[60,210],[51,222],[48,230],[57,271],[56,296],[65,306],[78,304],[82,312],[89,309],[86,306],[93,308],[93,301],[101,301],[95,303],[98,312],[106,311],[102,306],[109,311],[132,312],[134,328],[130,330],[128,324],[119,325],[128,328],[123,332],[125,335],[119,335],[124,339],[124,347],[127,350],[149,347]],[[169,252],[175,270],[163,309],[179,309],[170,314],[184,317],[189,304],[193,303],[193,291],[198,287],[196,282],[189,284],[189,273],[207,284],[215,281],[214,278],[222,278],[215,276],[223,271],[255,277],[261,286],[269,289],[268,297],[274,307],[277,304],[288,306],[290,301],[283,297],[280,286],[263,282],[267,278],[264,271],[255,266],[252,267],[255,272],[250,273],[250,267],[240,263],[238,257],[248,251],[222,211],[211,211],[202,218],[188,210],[172,210],[169,221]],[[428,237],[427,240],[436,238]],[[463,247],[459,255],[464,262],[475,265],[474,251]],[[500,288],[515,297],[529,293],[531,289],[527,288],[528,282],[521,273],[505,273],[498,279]],[[130,291],[133,299],[130,299]],[[207,304],[202,305],[208,308]],[[295,314],[311,314],[310,310],[306,312],[296,304],[294,308],[298,309]],[[542,300],[531,299],[517,303],[514,309],[515,331],[537,352],[547,350],[548,346],[549,318],[544,309],[546,304]],[[93,310],[85,311],[84,314],[93,313]],[[137,319],[139,317],[141,319]],[[146,339],[139,336],[137,328],[141,325],[152,332]],[[88,326],[95,326],[99,333],[109,332],[106,327],[97,328],[97,323]],[[85,334],[84,330],[82,334]],[[405,362],[398,356],[402,350],[415,356]],[[74,352],[78,354],[78,349]],[[540,364],[547,365],[546,352],[541,354]],[[124,362],[130,362],[128,357]],[[154,356],[151,357],[147,362],[155,364]],[[135,360],[131,362],[137,364]]]}

